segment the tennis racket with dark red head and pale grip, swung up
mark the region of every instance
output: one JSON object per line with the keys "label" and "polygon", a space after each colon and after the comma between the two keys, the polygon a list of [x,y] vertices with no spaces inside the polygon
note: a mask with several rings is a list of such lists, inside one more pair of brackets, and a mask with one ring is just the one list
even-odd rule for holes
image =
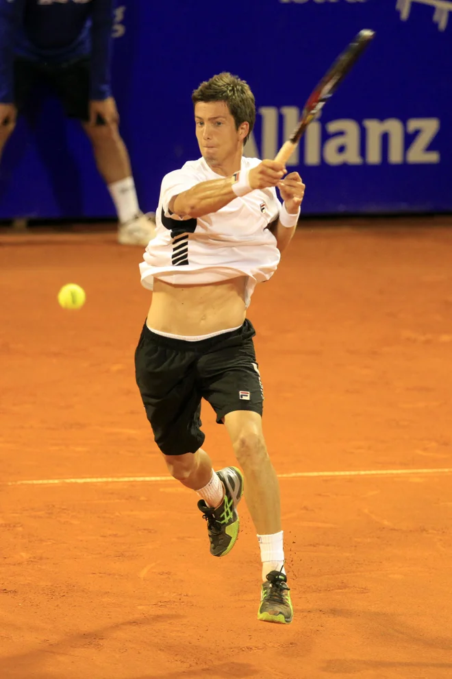
{"label": "tennis racket with dark red head and pale grip, swung up", "polygon": [[329,97],[336,92],[338,85],[344,80],[345,75],[347,75],[357,59],[360,58],[373,39],[373,36],[375,36],[375,32],[369,29],[360,31],[347,49],[344,49],[338,56],[331,69],[323,76],[314,91],[312,91],[309,99],[307,99],[297,127],[292,136],[290,136],[290,139],[281,146],[275,160],[279,163],[287,163],[309,123],[312,123]]}

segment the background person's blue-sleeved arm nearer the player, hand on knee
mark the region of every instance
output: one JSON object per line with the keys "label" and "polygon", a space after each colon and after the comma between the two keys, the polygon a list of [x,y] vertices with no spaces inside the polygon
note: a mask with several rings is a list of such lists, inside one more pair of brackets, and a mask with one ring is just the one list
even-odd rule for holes
{"label": "background person's blue-sleeved arm nearer the player, hand on knee", "polygon": [[113,47],[114,0],[93,0],[91,28],[90,124],[100,116],[107,125],[118,123],[112,97],[110,64]]}

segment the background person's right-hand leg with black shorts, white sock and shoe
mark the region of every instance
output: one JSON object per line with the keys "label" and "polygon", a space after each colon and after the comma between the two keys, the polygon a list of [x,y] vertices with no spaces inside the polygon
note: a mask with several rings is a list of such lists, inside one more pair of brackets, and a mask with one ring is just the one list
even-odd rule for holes
{"label": "background person's right-hand leg with black shorts, white sock and shoe", "polygon": [[66,115],[81,122],[92,145],[97,169],[107,184],[118,215],[118,241],[147,246],[155,233],[152,219],[138,206],[129,153],[116,123],[89,124],[90,68],[88,59],[49,70]]}

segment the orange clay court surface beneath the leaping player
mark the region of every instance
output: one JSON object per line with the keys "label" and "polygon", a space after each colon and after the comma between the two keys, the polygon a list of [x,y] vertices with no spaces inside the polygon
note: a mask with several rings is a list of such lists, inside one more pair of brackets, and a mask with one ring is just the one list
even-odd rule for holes
{"label": "orange clay court surface beneath the leaping player", "polygon": [[[452,676],[452,222],[363,222],[304,219],[249,313],[291,626],[256,617],[244,503],[215,560],[153,444],[140,248],[0,235],[1,679]],[[230,464],[210,407],[203,424]]]}

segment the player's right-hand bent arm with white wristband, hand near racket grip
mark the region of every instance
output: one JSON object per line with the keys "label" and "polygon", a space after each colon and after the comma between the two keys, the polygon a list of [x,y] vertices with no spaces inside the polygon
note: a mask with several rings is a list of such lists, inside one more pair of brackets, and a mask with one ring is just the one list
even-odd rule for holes
{"label": "player's right-hand bent arm with white wristband, hand near racket grip", "polygon": [[297,229],[306,187],[298,172],[290,172],[277,184],[277,187],[284,203],[279,211],[279,219],[270,228],[276,238],[279,252],[283,252]]}

